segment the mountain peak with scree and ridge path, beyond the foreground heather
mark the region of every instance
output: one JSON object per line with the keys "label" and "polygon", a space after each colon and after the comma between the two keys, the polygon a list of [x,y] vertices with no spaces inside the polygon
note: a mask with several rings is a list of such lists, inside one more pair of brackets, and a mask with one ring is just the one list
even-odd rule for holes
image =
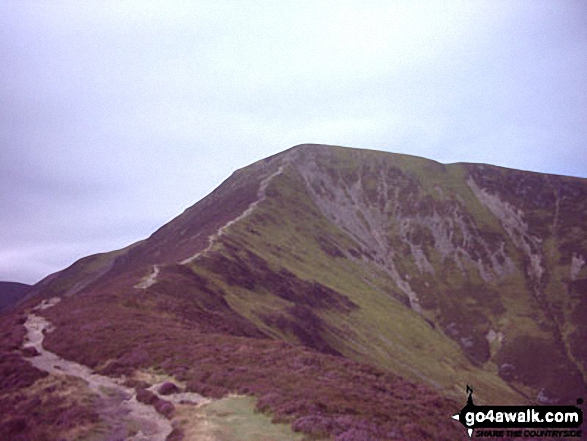
{"label": "mountain peak with scree and ridge path, beyond the foreground heather", "polygon": [[584,179],[303,145],[37,289],[122,296],[446,395],[471,378],[490,397],[568,401],[587,377],[586,215]]}

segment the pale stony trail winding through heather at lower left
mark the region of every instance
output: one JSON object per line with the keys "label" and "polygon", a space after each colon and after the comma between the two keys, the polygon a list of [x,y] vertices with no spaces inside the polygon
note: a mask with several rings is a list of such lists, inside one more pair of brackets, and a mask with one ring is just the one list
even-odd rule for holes
{"label": "pale stony trail winding through heather at lower left", "polygon": [[[44,300],[35,310],[50,308],[59,300]],[[134,389],[123,386],[120,379],[98,375],[87,366],[65,360],[47,351],[43,347],[44,333],[51,332],[54,328],[44,317],[31,313],[24,326],[27,335],[23,347],[34,347],[39,352],[39,355],[27,358],[33,366],[50,374],[81,378],[102,398],[98,411],[111,427],[107,439],[165,441],[172,431],[170,421],[160,415],[153,406],[138,402]],[[134,428],[133,433],[129,433],[129,428]]]}

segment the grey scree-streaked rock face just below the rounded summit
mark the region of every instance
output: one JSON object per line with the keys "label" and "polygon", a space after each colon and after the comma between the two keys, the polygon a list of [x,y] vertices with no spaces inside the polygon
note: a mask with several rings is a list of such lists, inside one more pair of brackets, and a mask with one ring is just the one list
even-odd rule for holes
{"label": "grey scree-streaked rock face just below the rounded summit", "polygon": [[[423,194],[416,177],[381,158],[357,157],[360,165],[350,170],[333,170],[332,160],[321,159],[299,166],[314,201],[392,277],[415,311],[422,309],[409,280],[436,274],[433,254],[441,262],[452,260],[461,271],[475,267],[485,282],[515,271],[505,241],[484,237],[461,200],[447,196],[440,185],[435,196]],[[413,261],[416,274],[400,274],[396,262],[406,259]]]}

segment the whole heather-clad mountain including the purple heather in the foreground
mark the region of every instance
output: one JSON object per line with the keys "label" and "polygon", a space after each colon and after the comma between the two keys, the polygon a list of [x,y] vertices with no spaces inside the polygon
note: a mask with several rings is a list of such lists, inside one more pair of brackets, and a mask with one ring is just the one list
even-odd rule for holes
{"label": "whole heather-clad mountain including the purple heather in the foreground", "polygon": [[[16,351],[32,308],[56,297],[33,314],[51,324],[51,353],[137,397],[161,379],[230,412],[236,398],[221,397],[252,396],[312,439],[461,439],[449,417],[466,384],[478,403],[574,404],[587,378],[586,214],[585,179],[294,147],[149,238],[35,285],[0,322],[0,425],[65,439],[127,430],[105,416],[107,397],[34,368],[30,345]],[[32,427],[39,384],[56,404]],[[214,407],[151,398],[173,407],[160,412],[168,439],[203,438],[202,419],[227,431],[218,439],[245,439],[222,412],[202,416]]]}

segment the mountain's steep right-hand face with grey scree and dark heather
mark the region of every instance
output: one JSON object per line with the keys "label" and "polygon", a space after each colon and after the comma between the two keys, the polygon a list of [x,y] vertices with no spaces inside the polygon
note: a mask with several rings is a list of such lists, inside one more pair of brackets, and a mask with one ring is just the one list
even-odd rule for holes
{"label": "mountain's steep right-hand face with grey scree and dark heather", "polygon": [[[542,375],[548,369],[534,372],[538,368],[528,363],[509,363],[512,357],[549,353],[567,372],[551,374],[572,378],[566,389],[558,388],[560,393],[584,387],[586,360],[576,349],[584,328],[573,319],[582,307],[569,298],[565,285],[585,278],[585,180],[360,151],[340,155],[308,149],[299,158],[298,171],[322,213],[360,244],[364,259],[389,274],[412,309],[434,312],[471,361],[491,358],[489,344],[495,339],[481,337],[490,324],[515,317],[506,302],[515,295],[532,311],[534,323],[492,331],[501,336],[496,348],[504,341],[507,347],[493,358],[513,365],[522,383],[549,383],[541,396],[556,395],[556,378]],[[569,229],[563,231],[563,225]],[[454,276],[443,277],[447,270]],[[517,288],[512,290],[512,284]],[[439,288],[465,304],[442,299]],[[482,305],[476,299],[480,292],[493,299]],[[577,294],[581,303],[586,294]],[[466,304],[472,301],[480,308]],[[453,321],[455,316],[460,320]],[[467,316],[476,318],[463,319]],[[518,338],[530,338],[534,331],[529,328],[547,334],[540,344],[530,345],[536,354],[528,354],[527,345],[515,348]],[[577,330],[569,335],[572,329]]]}

